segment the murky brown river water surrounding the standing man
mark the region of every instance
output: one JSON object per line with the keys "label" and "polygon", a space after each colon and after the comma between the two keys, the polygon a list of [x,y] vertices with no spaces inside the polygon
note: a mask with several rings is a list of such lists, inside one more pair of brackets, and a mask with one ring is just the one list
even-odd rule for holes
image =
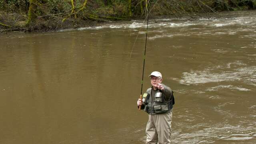
{"label": "murky brown river water surrounding the standing man", "polygon": [[[256,143],[256,11],[223,15],[149,24],[145,75],[175,91],[173,144]],[[0,36],[0,144],[144,144],[145,26]]]}

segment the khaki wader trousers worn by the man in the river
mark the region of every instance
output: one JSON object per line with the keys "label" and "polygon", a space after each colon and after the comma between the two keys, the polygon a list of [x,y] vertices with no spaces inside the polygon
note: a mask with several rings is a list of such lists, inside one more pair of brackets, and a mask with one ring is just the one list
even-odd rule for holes
{"label": "khaki wader trousers worn by the man in the river", "polygon": [[148,115],[146,144],[170,144],[172,110],[164,114]]}

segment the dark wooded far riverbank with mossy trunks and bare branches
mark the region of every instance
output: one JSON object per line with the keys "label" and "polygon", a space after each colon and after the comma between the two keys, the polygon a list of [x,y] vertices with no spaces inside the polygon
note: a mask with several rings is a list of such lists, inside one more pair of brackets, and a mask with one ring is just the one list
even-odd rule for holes
{"label": "dark wooded far riverbank with mossy trunks and bare branches", "polygon": [[0,32],[51,31],[113,20],[169,15],[192,19],[256,9],[256,0],[0,0]]}

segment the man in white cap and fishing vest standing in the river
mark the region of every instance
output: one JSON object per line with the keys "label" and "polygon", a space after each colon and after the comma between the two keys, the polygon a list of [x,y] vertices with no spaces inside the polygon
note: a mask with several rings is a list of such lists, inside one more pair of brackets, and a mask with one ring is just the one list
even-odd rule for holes
{"label": "man in white cap and fishing vest standing in the river", "polygon": [[138,107],[148,113],[146,144],[170,144],[173,92],[162,84],[160,72],[152,72],[148,77],[152,87],[143,94],[142,100],[137,101]]}

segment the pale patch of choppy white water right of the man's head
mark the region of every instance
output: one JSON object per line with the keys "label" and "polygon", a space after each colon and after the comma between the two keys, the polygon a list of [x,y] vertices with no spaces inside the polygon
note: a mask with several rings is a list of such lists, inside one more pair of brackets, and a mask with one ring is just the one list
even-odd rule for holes
{"label": "pale patch of choppy white water right of the man's head", "polygon": [[[231,67],[230,65],[234,66]],[[239,66],[244,66],[237,68]],[[230,70],[225,71],[224,69],[229,68]],[[180,84],[184,85],[198,85],[205,84],[208,82],[222,82],[222,81],[241,81],[256,85],[256,66],[247,66],[239,61],[228,63],[225,65],[220,65],[212,68],[206,68],[204,70],[183,72]],[[240,87],[228,86],[227,88],[234,88],[242,90]],[[246,90],[246,89],[244,89]]]}

